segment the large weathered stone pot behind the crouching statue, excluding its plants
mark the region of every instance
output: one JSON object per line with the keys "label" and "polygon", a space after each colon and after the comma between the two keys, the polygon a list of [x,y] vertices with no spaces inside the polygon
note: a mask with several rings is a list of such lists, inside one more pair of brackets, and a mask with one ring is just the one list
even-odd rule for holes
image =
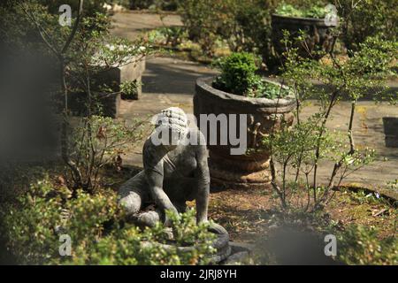
{"label": "large weathered stone pot behind the crouching statue, excluding its plants", "polygon": [[[247,125],[244,127],[248,131],[246,144],[249,150],[245,154],[232,155],[231,148],[236,147],[229,140],[227,145],[210,145],[208,139],[211,182],[222,187],[263,187],[272,178],[270,154],[261,141],[264,135],[278,131],[281,126],[292,125],[295,98],[293,95],[279,100],[236,96],[212,88],[213,79],[200,78],[196,81],[194,113],[198,126],[201,127],[200,114],[247,114]],[[220,127],[217,126],[219,134]]]}

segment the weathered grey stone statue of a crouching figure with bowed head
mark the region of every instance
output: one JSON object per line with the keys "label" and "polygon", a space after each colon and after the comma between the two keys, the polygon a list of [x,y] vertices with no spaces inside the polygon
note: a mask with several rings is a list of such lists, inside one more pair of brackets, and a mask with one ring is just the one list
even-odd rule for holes
{"label": "weathered grey stone statue of a crouching figure with bowed head", "polygon": [[[192,137],[197,141],[192,142]],[[141,226],[154,226],[157,221],[170,226],[165,210],[184,212],[186,202],[195,200],[197,223],[208,221],[210,174],[203,141],[197,126],[188,127],[180,108],[157,115],[156,128],[142,150],[144,169],[119,189],[119,203],[128,218]],[[221,226],[214,230],[226,233]]]}

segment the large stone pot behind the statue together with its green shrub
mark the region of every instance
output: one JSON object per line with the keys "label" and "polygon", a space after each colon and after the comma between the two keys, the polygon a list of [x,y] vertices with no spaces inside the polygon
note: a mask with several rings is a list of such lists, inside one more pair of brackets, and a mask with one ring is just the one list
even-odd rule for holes
{"label": "large stone pot behind the statue together with its green shrub", "polygon": [[244,115],[245,119],[237,119],[236,128],[244,128],[244,133],[237,135],[246,136],[246,151],[233,155],[231,149],[236,144],[221,142],[221,134],[231,136],[233,120],[225,119],[228,125],[213,124],[211,129],[217,131],[219,141],[208,142],[211,181],[224,187],[264,186],[271,181],[271,172],[270,156],[261,137],[292,125],[295,98],[288,88],[257,75],[256,59],[249,53],[233,53],[221,62],[220,69],[221,74],[216,78],[196,81],[195,117],[202,129],[201,124],[211,123],[209,119],[203,120],[203,114],[206,117],[214,114],[212,117],[218,120]]}

